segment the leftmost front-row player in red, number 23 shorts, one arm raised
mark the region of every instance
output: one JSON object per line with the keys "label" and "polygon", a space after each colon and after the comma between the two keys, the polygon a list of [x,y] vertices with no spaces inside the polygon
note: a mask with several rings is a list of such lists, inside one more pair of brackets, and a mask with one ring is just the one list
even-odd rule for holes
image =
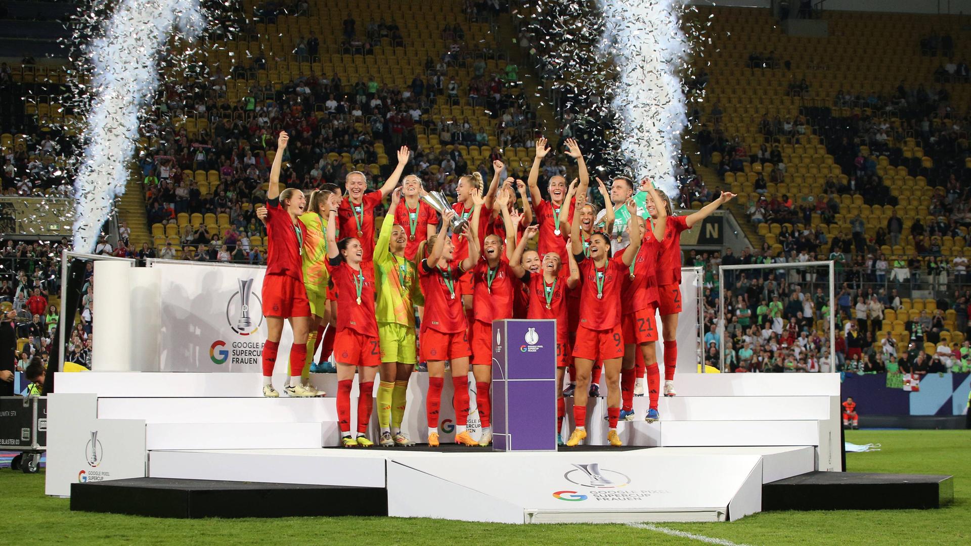
{"label": "leftmost front-row player in red, number 23 shorts, one arm raised", "polygon": [[[374,310],[374,269],[364,261],[364,245],[356,237],[337,238],[337,211],[327,222],[327,257],[337,290],[337,417],[344,447],[371,447],[367,426],[374,403],[374,376],[381,365],[381,344]],[[357,437],[351,434],[351,387],[357,372]]]}

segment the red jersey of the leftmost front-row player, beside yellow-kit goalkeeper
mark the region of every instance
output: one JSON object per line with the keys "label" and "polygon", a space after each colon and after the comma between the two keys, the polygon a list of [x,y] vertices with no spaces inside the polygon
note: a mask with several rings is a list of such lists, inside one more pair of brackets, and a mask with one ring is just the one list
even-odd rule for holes
{"label": "red jersey of the leftmost front-row player, beside yellow-kit goalkeeper", "polygon": [[[337,289],[337,331],[351,328],[361,335],[378,337],[378,321],[374,313],[374,268],[361,262],[360,271],[352,269],[340,257],[331,261],[330,280]],[[357,293],[360,288],[360,303]]]}

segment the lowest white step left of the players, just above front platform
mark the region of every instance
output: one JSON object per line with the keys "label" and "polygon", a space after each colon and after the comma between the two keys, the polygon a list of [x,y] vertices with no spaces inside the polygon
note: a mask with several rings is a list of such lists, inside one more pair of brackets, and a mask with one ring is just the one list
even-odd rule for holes
{"label": "lowest white step left of the players, just above front platform", "polygon": [[334,438],[336,423],[153,423],[146,425],[146,449],[302,449]]}

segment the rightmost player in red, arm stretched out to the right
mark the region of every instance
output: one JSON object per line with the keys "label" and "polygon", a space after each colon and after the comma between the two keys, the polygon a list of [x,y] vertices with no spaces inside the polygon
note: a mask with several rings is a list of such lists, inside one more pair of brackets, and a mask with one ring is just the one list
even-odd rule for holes
{"label": "rightmost player in red, arm stretched out to the right", "polygon": [[[711,216],[718,208],[735,196],[722,191],[718,199],[708,203],[701,210],[687,216],[672,216],[671,198],[663,191],[658,192],[668,214],[661,252],[657,258],[657,290],[659,311],[664,335],[664,395],[674,396],[674,371],[678,363],[678,314],[681,313],[681,232],[690,229],[695,223]],[[660,209],[660,205],[655,208]],[[654,215],[652,214],[652,218]]]}

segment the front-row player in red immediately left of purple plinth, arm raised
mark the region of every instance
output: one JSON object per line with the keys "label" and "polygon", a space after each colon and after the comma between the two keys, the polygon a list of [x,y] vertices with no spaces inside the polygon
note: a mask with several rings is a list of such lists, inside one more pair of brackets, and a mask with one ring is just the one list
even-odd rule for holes
{"label": "front-row player in red immediately left of purple plinth, arm raised", "polygon": [[[509,215],[510,193],[504,188],[496,197],[496,208],[506,222],[504,232],[515,244],[516,226]],[[472,270],[473,282],[473,323],[472,331],[472,373],[476,379],[476,407],[482,420],[483,434],[479,445],[487,446],[492,441],[492,428],[489,423],[492,385],[492,321],[513,318],[513,303],[519,290],[517,279],[522,273],[510,267],[508,258],[513,247],[503,245],[498,234],[485,236],[482,258]],[[507,258],[507,259],[503,259]]]}

